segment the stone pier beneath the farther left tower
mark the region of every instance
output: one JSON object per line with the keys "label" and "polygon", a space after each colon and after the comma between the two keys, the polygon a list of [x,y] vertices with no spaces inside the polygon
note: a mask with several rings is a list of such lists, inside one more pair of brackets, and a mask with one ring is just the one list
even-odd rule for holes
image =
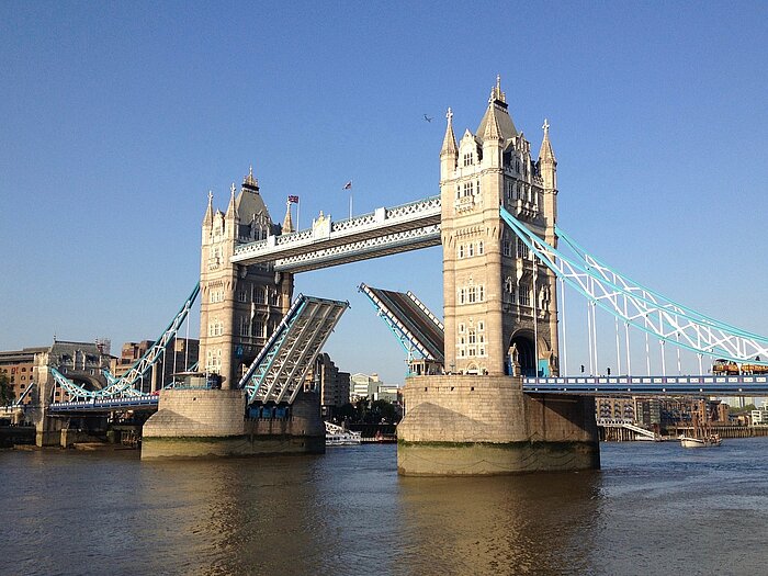
{"label": "stone pier beneath the farther left tower", "polygon": [[144,423],[142,460],[325,452],[319,396],[301,393],[291,418],[246,419],[241,389],[163,389]]}

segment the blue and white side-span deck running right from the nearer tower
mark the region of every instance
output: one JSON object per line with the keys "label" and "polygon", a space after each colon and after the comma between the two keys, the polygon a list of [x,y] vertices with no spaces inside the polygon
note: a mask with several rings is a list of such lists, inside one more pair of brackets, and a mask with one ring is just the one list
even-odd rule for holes
{"label": "blue and white side-span deck running right from the nearer tower", "polygon": [[523,379],[523,392],[589,396],[760,396],[768,376],[563,376]]}

